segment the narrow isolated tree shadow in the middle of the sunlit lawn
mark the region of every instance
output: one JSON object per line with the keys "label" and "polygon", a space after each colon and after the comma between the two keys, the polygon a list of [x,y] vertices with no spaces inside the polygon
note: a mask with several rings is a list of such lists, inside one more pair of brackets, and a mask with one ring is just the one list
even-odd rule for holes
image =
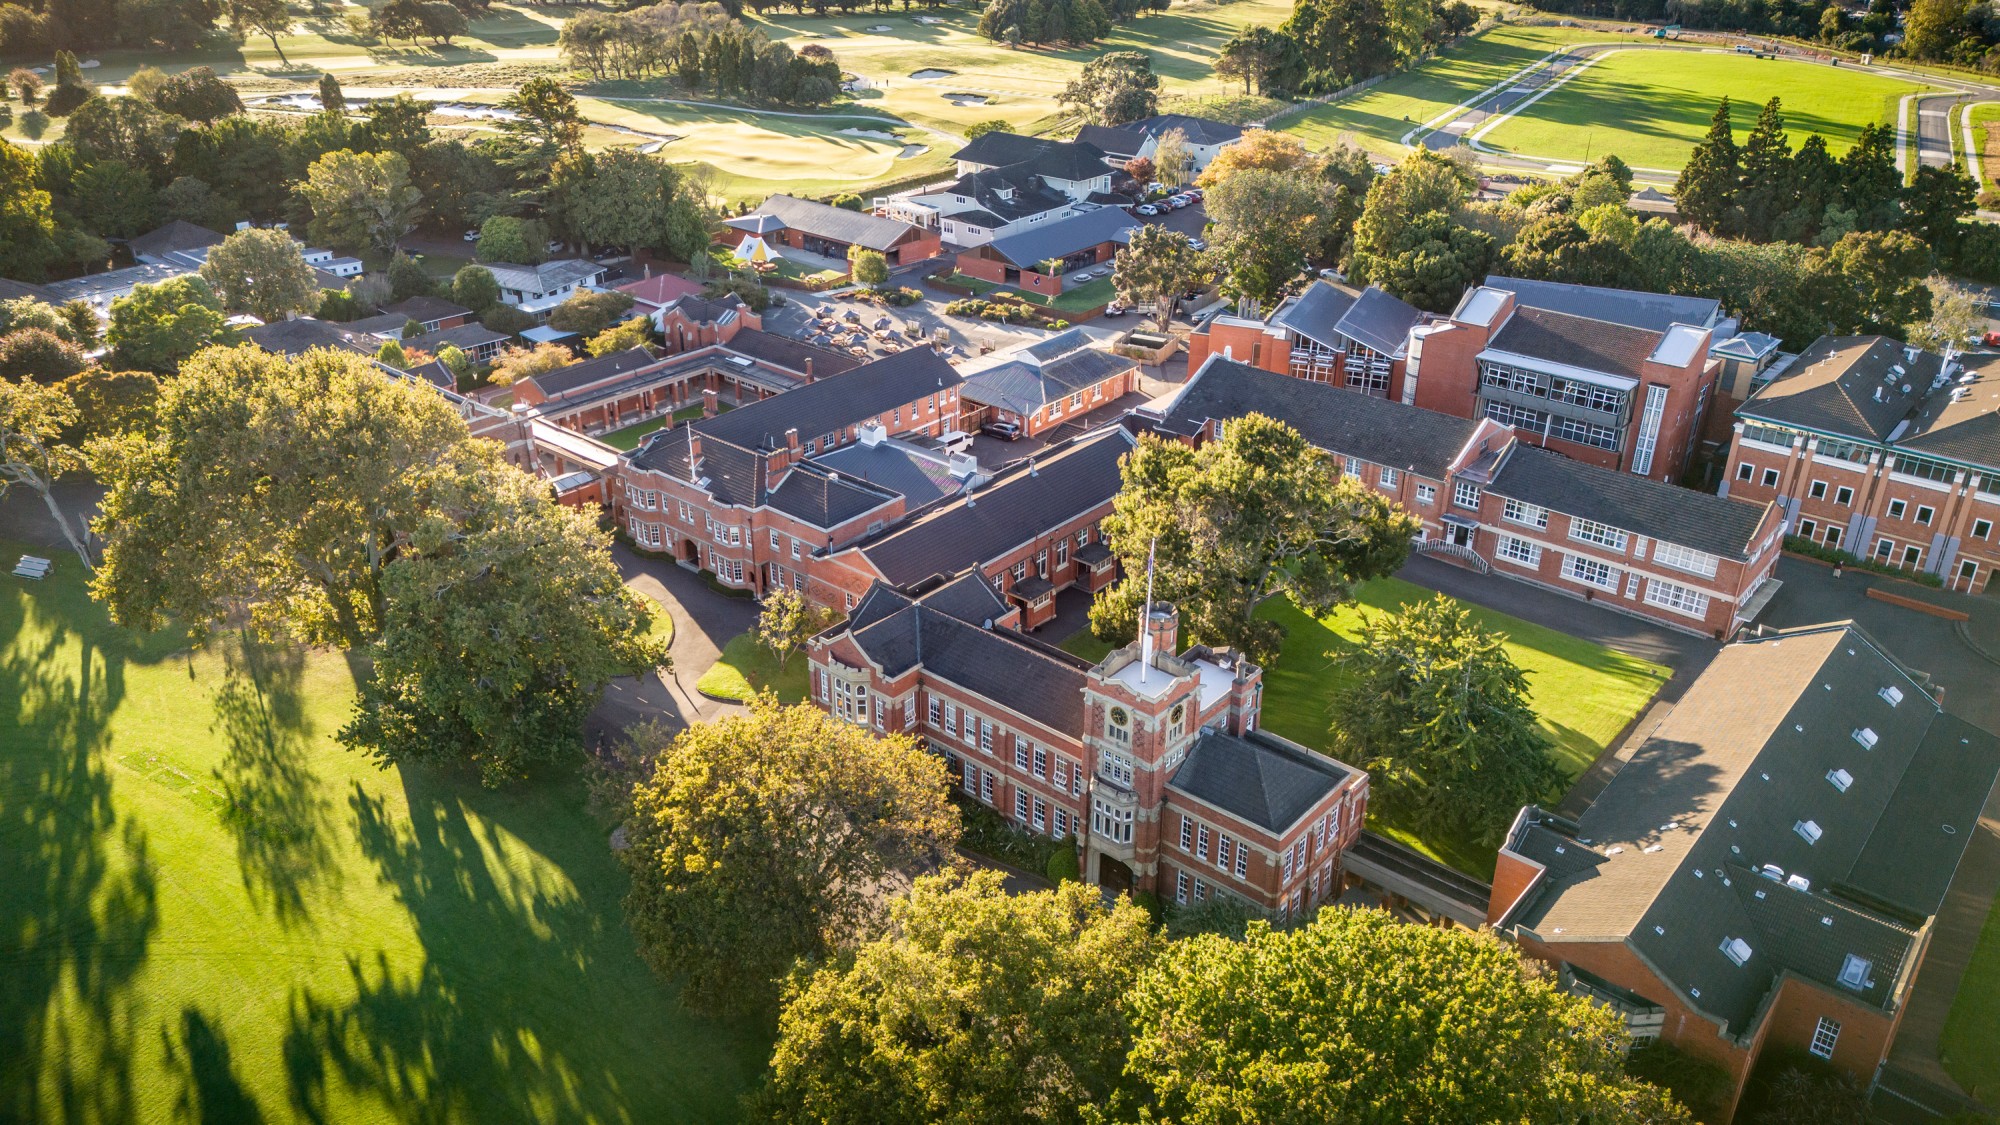
{"label": "narrow isolated tree shadow in the middle of the sunlit lawn", "polygon": [[222,823],[236,837],[250,899],[266,903],[286,927],[306,925],[306,893],[340,877],[328,845],[332,801],[308,765],[312,723],[300,693],[306,653],[250,637],[220,645],[214,729],[228,753],[214,775],[224,795]]}

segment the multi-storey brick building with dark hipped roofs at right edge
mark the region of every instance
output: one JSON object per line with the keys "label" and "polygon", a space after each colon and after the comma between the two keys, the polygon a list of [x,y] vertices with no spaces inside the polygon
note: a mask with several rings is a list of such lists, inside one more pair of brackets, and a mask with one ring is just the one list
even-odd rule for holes
{"label": "multi-storey brick building with dark hipped roofs at right edge", "polygon": [[2000,360],[1822,336],[1736,410],[1730,496],[1822,546],[1982,593],[2000,567]]}

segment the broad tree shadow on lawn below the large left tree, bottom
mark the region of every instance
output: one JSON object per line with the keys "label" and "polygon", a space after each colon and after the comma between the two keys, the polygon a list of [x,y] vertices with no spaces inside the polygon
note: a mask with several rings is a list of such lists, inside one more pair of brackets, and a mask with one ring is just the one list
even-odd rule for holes
{"label": "broad tree shadow on lawn below the large left tree, bottom", "polygon": [[734,1119],[768,1039],[694,1023],[650,977],[624,877],[568,793],[402,779],[408,819],[362,787],[348,807],[422,963],[350,957],[352,999],[294,993],[294,1113],[334,1121],[346,1089],[420,1123]]}

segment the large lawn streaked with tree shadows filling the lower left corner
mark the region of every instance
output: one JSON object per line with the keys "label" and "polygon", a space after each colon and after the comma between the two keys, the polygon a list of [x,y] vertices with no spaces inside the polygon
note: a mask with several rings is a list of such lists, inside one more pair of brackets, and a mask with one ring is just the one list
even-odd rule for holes
{"label": "large lawn streaked with tree shadows filling the lower left corner", "polygon": [[736,1117],[768,1043],[640,963],[576,783],[378,769],[340,655],[134,637],[78,571],[0,587],[0,1119]]}

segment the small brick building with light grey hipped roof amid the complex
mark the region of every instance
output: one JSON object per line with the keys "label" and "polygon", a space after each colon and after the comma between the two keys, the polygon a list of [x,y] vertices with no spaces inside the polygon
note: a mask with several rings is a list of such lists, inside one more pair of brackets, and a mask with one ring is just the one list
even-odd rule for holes
{"label": "small brick building with light grey hipped roof amid the complex", "polygon": [[986,422],[1014,422],[1024,436],[1040,436],[1062,422],[1138,390],[1138,360],[1092,346],[1082,328],[1068,328],[960,368],[958,424],[976,430]]}

